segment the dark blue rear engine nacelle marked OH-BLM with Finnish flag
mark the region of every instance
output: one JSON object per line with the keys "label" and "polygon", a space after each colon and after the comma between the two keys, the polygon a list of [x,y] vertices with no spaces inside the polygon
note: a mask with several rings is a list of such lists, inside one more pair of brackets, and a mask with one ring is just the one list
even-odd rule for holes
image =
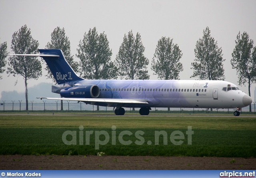
{"label": "dark blue rear engine nacelle marked OH-BLM with Finnish flag", "polygon": [[79,85],[60,90],[60,96],[64,98],[97,98],[99,95],[97,85]]}

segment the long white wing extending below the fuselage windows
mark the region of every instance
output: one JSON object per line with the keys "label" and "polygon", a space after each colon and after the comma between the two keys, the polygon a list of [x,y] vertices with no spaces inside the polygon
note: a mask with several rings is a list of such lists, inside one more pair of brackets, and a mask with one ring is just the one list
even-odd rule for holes
{"label": "long white wing extending below the fuselage windows", "polygon": [[48,97],[37,97],[37,98],[90,102],[91,105],[94,105],[95,103],[99,102],[99,103],[107,103],[108,106],[112,106],[113,104],[148,104],[148,100],[146,99],[48,98]]}

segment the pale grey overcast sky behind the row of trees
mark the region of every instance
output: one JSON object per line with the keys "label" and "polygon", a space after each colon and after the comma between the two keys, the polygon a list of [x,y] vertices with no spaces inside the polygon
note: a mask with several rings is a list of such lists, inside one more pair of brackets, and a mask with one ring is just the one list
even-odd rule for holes
{"label": "pale grey overcast sky behind the row of trees", "polygon": [[[39,48],[45,48],[50,42],[54,28],[64,28],[74,56],[84,33],[96,27],[98,34],[105,32],[107,35],[113,61],[124,34],[130,30],[134,35],[139,32],[144,55],[150,61],[150,79],[157,79],[150,66],[162,36],[173,38],[182,50],[180,61],[184,71],[180,79],[190,79],[196,41],[202,38],[208,26],[226,59],[225,80],[238,85],[236,69],[230,64],[231,54],[239,31],[247,32],[256,45],[256,0],[0,0],[0,43],[7,42],[8,52],[13,53],[10,49],[12,34],[25,24],[31,29],[32,38],[38,40]],[[1,75],[0,93],[25,91],[22,77]],[[28,86],[52,82],[44,75],[46,72],[38,80],[29,80]],[[255,84],[251,88],[252,98],[254,87]],[[248,93],[248,85],[240,88]]]}

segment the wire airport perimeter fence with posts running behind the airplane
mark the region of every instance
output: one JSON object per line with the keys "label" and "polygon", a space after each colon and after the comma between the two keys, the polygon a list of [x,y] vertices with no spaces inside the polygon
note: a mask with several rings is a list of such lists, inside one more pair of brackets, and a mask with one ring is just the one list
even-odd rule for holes
{"label": "wire airport perimeter fence with posts running behind the airplane", "polygon": [[[48,103],[42,100],[41,103],[30,101],[28,103],[28,111],[26,111],[26,103],[21,101],[2,101],[0,102],[0,112],[112,112],[113,107],[99,107],[100,111],[96,111],[94,105],[78,103],[74,101],[63,101],[63,109],[61,110],[60,101]],[[126,108],[126,113],[138,113],[139,108],[134,111],[132,108]],[[130,111],[129,111],[130,110]],[[249,107],[242,108],[242,112],[248,112]],[[252,111],[256,114],[256,102],[252,103]],[[113,111],[114,112],[114,111]],[[202,108],[152,108],[151,113],[232,113],[234,109],[202,109]]]}

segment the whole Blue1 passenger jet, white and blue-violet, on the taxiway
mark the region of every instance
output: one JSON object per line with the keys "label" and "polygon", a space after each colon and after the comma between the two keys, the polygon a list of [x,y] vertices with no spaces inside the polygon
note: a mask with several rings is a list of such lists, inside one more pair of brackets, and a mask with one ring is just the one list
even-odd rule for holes
{"label": "whole Blue1 passenger jet, white and blue-violet, on the taxiway", "polygon": [[60,49],[38,49],[39,54],[9,54],[42,57],[57,85],[52,92],[62,98],[90,105],[114,107],[116,115],[124,115],[124,108],[140,108],[140,115],[148,115],[152,107],[222,108],[235,109],[239,116],[242,107],[252,98],[228,81],[218,80],[91,80],[78,76]]}

